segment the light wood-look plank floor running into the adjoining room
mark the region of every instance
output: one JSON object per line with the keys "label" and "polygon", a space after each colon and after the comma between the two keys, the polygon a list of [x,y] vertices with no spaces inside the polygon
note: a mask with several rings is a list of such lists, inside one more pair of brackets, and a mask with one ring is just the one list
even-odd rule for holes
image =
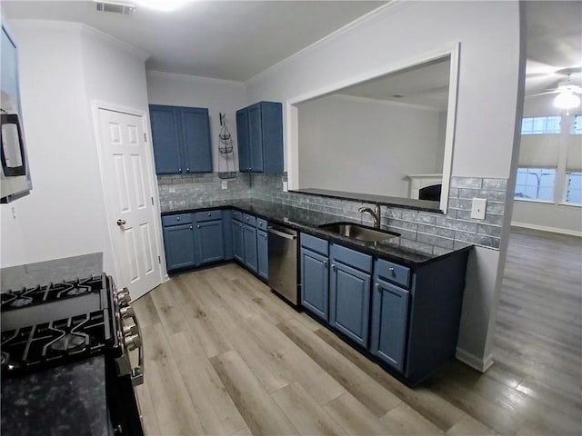
{"label": "light wood-look plank floor running into the adjoining room", "polygon": [[495,357],[407,388],[236,264],[134,303],[148,435],[579,435],[579,238],[512,233]]}

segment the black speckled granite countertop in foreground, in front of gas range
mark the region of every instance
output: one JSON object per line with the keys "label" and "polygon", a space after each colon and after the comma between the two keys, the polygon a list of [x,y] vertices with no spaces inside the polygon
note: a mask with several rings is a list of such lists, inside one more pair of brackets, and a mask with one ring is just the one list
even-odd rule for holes
{"label": "black speckled granite countertop in foreground, in front of gas range", "polygon": [[105,436],[105,357],[2,381],[3,436]]}

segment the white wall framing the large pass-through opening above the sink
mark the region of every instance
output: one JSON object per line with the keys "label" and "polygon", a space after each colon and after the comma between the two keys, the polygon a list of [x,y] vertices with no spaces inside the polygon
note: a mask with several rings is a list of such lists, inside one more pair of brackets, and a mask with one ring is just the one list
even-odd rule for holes
{"label": "white wall framing the large pass-through opening above the sink", "polygon": [[[460,42],[452,174],[509,178],[520,64],[517,2],[403,2],[384,11],[259,74],[249,83],[249,100],[301,101]],[[289,120],[287,139],[294,134]],[[296,164],[296,150],[286,148],[286,161]],[[475,257],[469,263],[464,313],[480,316],[475,322],[464,316],[458,346],[465,357],[480,362],[474,366],[485,368],[504,256],[490,251]]]}

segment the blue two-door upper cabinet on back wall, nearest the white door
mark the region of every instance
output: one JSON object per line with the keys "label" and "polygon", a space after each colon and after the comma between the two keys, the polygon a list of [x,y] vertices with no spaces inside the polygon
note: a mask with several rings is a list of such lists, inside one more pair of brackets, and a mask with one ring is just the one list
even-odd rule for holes
{"label": "blue two-door upper cabinet on back wall, nearest the white door", "polygon": [[212,173],[208,110],[149,105],[158,174]]}

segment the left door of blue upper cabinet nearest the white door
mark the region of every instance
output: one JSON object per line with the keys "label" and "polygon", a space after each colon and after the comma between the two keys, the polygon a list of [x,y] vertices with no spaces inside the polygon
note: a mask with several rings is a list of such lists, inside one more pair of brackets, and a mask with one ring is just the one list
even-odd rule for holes
{"label": "left door of blue upper cabinet nearest the white door", "polygon": [[183,158],[176,108],[174,106],[149,105],[152,124],[152,143],[157,174],[180,173]]}

